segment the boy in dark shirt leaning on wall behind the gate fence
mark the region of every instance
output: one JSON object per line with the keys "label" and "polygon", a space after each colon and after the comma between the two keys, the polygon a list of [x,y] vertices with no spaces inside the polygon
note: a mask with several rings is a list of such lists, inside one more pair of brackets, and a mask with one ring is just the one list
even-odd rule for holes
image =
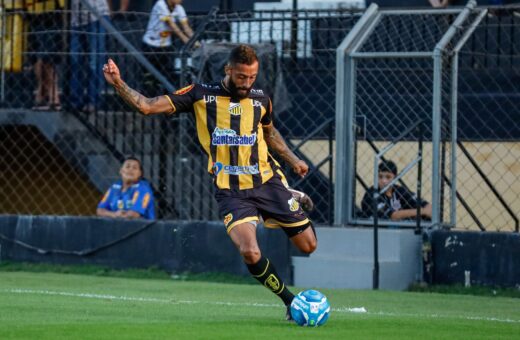
{"label": "boy in dark shirt leaning on wall behind the gate fence", "polygon": [[[386,187],[397,176],[397,166],[392,161],[383,161],[379,164],[379,190]],[[361,202],[363,216],[373,216],[374,187],[365,193]],[[432,217],[432,206],[421,200],[418,202],[416,195],[405,187],[393,185],[377,202],[378,216],[391,220],[413,219],[417,216],[417,204],[421,205],[421,216]]]}

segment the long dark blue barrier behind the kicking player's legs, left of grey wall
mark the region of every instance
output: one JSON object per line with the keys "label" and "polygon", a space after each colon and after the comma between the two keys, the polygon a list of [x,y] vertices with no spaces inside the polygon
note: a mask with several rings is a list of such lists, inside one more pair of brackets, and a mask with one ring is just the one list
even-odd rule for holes
{"label": "long dark blue barrier behind the kicking player's legs, left of grey wall", "polygon": [[[290,242],[281,230],[258,228],[264,255],[288,283]],[[95,217],[0,216],[0,258],[116,269],[158,267],[168,272],[249,276],[220,222],[126,221]]]}

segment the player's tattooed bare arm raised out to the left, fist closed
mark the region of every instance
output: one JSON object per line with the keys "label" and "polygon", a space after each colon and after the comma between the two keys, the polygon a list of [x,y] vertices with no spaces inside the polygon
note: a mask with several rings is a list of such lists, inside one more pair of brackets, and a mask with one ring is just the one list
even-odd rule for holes
{"label": "player's tattooed bare arm raised out to the left, fist closed", "polygon": [[116,63],[112,59],[108,59],[103,66],[103,74],[106,81],[114,87],[117,94],[135,110],[144,115],[157,113],[172,113],[173,107],[171,102],[165,97],[148,98],[130,88],[123,79]]}

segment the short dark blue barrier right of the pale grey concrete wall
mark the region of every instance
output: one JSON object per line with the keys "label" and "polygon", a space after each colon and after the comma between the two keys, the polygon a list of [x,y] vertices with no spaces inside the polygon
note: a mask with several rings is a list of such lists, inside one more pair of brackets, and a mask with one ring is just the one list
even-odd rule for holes
{"label": "short dark blue barrier right of the pale grey concrete wall", "polygon": [[433,283],[515,287],[520,285],[520,234],[435,231]]}

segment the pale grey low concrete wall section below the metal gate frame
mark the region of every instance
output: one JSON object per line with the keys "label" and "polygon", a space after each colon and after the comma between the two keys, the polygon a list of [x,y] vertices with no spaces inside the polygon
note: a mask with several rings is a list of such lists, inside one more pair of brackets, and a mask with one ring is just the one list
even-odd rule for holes
{"label": "pale grey low concrete wall section below the metal gate frame", "polygon": [[[317,228],[318,249],[293,257],[294,284],[316,288],[372,288],[373,229]],[[381,289],[404,290],[420,277],[421,237],[413,230],[380,229]]]}

